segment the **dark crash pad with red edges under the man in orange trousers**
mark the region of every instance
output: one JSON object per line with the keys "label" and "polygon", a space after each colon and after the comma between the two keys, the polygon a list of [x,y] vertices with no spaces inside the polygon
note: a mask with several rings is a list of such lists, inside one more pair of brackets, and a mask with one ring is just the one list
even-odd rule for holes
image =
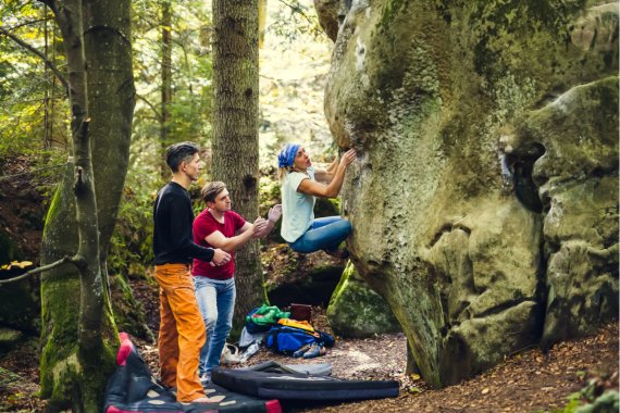
{"label": "dark crash pad with red edges under the man in orange trousers", "polygon": [[259,400],[239,395],[215,384],[208,384],[204,392],[218,399],[213,403],[179,403],[171,389],[161,386],[152,376],[128,336],[121,333],[121,348],[116,355],[116,371],[108,380],[106,413],[135,412],[265,412],[281,413],[277,400]]}

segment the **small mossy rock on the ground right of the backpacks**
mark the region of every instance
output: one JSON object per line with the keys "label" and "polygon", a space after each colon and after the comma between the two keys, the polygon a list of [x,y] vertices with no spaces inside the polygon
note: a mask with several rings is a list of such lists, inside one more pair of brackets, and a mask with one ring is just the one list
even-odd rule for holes
{"label": "small mossy rock on the ground right of the backpacks", "polygon": [[401,331],[387,302],[373,291],[348,263],[327,308],[327,320],[342,337],[370,337]]}

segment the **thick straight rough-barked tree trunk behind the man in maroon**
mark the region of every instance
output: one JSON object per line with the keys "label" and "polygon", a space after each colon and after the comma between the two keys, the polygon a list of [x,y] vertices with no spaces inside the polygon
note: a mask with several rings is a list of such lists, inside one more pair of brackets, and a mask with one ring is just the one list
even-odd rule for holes
{"label": "thick straight rough-barked tree trunk behind the man in maroon", "polygon": [[[233,209],[258,216],[258,0],[213,1],[213,179],[226,184]],[[258,241],[236,256],[234,331],[265,299]]]}

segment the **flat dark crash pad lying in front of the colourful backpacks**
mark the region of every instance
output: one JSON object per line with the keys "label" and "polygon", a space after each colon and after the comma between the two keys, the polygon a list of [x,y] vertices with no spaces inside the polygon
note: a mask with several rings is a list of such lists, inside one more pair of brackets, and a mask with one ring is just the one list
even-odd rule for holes
{"label": "flat dark crash pad lying in front of the colourful backpacks", "polygon": [[261,399],[346,401],[397,397],[396,380],[344,380],[293,372],[215,368],[211,380],[228,390]]}

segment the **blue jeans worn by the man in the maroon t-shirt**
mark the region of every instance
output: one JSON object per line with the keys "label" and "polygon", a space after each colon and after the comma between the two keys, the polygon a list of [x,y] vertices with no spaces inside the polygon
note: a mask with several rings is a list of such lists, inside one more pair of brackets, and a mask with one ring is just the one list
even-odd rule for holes
{"label": "blue jeans worn by the man in the maroon t-shirt", "polygon": [[220,365],[220,355],[233,327],[235,309],[235,278],[211,279],[195,276],[196,301],[207,327],[207,340],[200,350],[199,374]]}

